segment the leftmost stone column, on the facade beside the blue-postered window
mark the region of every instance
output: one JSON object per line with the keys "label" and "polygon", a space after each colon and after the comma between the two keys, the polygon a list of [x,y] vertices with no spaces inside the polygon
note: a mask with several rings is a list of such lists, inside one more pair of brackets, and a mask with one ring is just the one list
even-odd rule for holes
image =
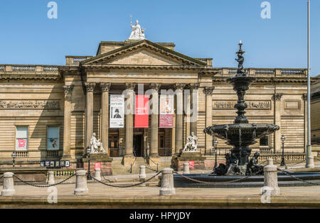
{"label": "leftmost stone column, on the facade beside the blue-postered window", "polygon": [[70,131],[71,131],[71,94],[73,85],[63,86],[65,92],[65,107],[63,114],[63,158],[70,160]]}

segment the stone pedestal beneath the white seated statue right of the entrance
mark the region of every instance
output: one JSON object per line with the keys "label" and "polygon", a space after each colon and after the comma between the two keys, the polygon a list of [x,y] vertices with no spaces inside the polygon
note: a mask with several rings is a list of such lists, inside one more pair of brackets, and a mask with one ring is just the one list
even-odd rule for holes
{"label": "stone pedestal beneath the white seated statue right of the entrance", "polygon": [[[205,168],[206,157],[203,157],[200,152],[182,152],[172,158],[174,170],[183,170],[183,163],[189,161],[194,161],[195,168]],[[194,168],[191,166],[190,169]]]}

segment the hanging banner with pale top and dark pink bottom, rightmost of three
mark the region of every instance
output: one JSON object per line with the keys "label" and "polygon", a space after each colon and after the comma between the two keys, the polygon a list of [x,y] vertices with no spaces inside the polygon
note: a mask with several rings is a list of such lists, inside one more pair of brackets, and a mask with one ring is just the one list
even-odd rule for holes
{"label": "hanging banner with pale top and dark pink bottom, rightmost of three", "polygon": [[160,95],[159,128],[174,127],[174,97]]}

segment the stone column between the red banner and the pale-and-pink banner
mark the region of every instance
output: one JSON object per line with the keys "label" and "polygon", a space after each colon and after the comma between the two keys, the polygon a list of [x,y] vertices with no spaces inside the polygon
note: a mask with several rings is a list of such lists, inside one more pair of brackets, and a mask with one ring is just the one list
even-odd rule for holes
{"label": "stone column between the red banner and the pale-and-pink banner", "polygon": [[158,126],[159,126],[159,89],[160,84],[151,84],[152,98],[151,98],[151,144],[150,156],[159,156],[158,151]]}

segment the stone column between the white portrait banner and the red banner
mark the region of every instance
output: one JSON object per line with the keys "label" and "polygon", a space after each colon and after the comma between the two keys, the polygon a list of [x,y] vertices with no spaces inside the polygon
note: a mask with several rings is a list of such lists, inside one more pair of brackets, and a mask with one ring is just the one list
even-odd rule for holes
{"label": "stone column between the white portrait banner and the red banner", "polygon": [[126,146],[124,151],[124,165],[130,165],[134,160],[133,156],[133,114],[134,114],[134,88],[135,83],[126,83],[127,100],[126,100]]}

